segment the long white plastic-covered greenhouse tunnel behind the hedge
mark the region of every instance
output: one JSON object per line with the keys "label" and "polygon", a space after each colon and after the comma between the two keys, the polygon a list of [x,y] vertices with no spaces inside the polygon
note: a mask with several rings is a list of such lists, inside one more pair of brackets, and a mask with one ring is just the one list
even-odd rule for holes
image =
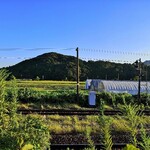
{"label": "long white plastic-covered greenhouse tunnel behind the hedge", "polygon": [[[87,83],[86,83],[87,84]],[[136,95],[138,93],[138,81],[117,81],[117,80],[100,80],[91,79],[89,90],[106,91],[114,93],[130,93]],[[141,81],[141,93],[150,93],[150,82]]]}

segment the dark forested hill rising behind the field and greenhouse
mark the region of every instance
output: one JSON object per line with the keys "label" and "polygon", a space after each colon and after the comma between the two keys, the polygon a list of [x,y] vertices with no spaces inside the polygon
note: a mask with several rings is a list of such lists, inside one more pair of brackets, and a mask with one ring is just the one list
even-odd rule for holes
{"label": "dark forested hill rising behind the field and greenhouse", "polygon": [[[39,77],[46,80],[76,80],[76,60],[76,57],[52,52],[22,61],[6,69],[19,79]],[[83,60],[79,60],[79,64],[80,80],[87,78],[134,80],[137,76],[137,71],[131,64]]]}

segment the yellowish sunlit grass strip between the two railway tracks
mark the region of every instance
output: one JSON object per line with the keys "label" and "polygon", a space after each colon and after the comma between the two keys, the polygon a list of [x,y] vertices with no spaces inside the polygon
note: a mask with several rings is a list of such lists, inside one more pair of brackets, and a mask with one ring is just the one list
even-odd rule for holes
{"label": "yellowish sunlit grass strip between the two railway tracks", "polygon": [[[129,124],[122,117],[111,117],[111,130],[117,132],[129,132]],[[143,122],[149,124],[149,117],[143,117]],[[61,133],[85,133],[86,127],[90,127],[93,134],[101,133],[98,116],[46,116],[46,124],[49,130],[55,134]]]}

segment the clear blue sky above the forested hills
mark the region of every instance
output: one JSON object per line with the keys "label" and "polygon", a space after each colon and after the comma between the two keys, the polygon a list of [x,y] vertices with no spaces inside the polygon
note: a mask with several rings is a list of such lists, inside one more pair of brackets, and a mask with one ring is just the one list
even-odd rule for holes
{"label": "clear blue sky above the forested hills", "polygon": [[0,67],[76,47],[86,59],[150,60],[150,0],[0,1]]}

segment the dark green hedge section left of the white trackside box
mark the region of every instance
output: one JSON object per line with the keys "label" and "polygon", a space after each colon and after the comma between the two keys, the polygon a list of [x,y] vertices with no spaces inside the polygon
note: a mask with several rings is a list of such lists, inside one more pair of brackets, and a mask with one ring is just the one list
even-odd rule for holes
{"label": "dark green hedge section left of the white trackside box", "polygon": [[88,93],[80,92],[77,102],[76,91],[37,91],[31,88],[21,88],[18,91],[18,99],[22,103],[41,103],[41,104],[78,104],[88,106]]}

